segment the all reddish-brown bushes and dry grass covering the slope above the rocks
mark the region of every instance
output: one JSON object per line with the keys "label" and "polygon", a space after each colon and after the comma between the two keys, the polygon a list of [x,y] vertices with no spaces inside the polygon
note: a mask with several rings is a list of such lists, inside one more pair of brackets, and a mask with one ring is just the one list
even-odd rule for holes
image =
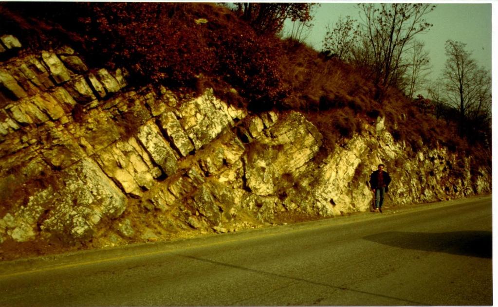
{"label": "all reddish-brown bushes and dry grass covering the slope above the rocks", "polygon": [[[126,67],[135,85],[165,85],[180,97],[213,88],[250,111],[297,109],[325,136],[323,150],[385,116],[387,128],[416,153],[446,146],[491,167],[490,146],[458,136],[427,100],[366,80],[363,67],[281,39],[214,3],[31,2],[0,5],[0,28],[32,49],[71,44],[93,67]],[[381,99],[379,99],[381,97]]]}

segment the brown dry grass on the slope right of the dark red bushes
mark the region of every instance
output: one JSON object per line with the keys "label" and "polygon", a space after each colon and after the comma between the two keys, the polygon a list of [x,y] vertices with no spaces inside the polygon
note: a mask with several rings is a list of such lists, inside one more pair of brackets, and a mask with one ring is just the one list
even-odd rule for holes
{"label": "brown dry grass on the slope right of the dark red bushes", "polygon": [[279,107],[306,114],[324,136],[323,154],[354,133],[361,133],[365,123],[373,124],[383,116],[394,139],[404,141],[412,154],[427,147],[447,147],[451,152],[472,156],[473,168],[491,169],[489,150],[479,144],[470,146],[468,140],[459,137],[455,122],[436,119],[397,89],[379,89],[359,69],[324,58],[309,46],[291,40],[282,44],[286,51],[281,59],[284,80],[292,91]]}

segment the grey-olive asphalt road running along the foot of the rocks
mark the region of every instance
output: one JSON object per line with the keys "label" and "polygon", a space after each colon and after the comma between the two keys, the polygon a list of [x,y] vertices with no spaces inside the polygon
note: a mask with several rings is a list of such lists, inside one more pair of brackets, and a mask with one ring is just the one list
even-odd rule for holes
{"label": "grey-olive asphalt road running along the foot of the rocks", "polygon": [[0,263],[0,306],[493,305],[492,199]]}

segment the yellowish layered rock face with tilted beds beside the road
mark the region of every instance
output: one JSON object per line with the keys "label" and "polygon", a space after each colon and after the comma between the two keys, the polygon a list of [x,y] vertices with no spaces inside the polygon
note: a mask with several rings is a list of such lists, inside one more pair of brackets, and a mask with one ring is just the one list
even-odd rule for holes
{"label": "yellowish layered rock face with tilted beds beside the road", "polygon": [[[22,48],[0,39],[4,50]],[[69,47],[0,62],[0,250],[103,247],[269,225],[282,213],[366,211],[379,163],[393,178],[388,206],[491,192],[491,175],[471,176],[469,158],[446,148],[407,155],[383,118],[324,153],[299,112],[248,114],[211,90],[180,102],[166,88],[129,87],[126,76],[89,69]]]}

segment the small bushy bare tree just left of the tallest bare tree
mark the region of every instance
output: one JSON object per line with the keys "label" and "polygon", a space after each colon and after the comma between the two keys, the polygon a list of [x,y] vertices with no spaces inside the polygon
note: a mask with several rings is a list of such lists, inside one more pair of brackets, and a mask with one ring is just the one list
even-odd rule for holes
{"label": "small bushy bare tree just left of the tallest bare tree", "polygon": [[331,28],[327,25],[327,33],[323,39],[323,51],[343,61],[349,61],[353,56],[353,46],[357,41],[359,30],[355,25],[357,20],[351,16],[342,17]]}

